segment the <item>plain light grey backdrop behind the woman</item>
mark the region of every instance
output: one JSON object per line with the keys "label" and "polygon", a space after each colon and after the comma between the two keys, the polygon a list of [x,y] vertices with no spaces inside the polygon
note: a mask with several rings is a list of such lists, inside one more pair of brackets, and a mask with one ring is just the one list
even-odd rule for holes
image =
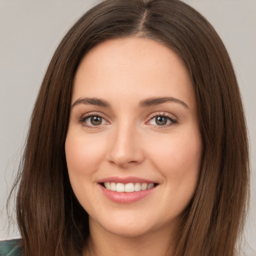
{"label": "plain light grey backdrop behind the woman", "polygon": [[[256,0],[184,0],[219,33],[236,71],[251,147],[251,204],[245,247],[256,251]],[[0,209],[12,184],[29,117],[43,74],[58,42],[96,0],[0,0]],[[4,209],[0,239],[6,232]],[[256,255],[248,249],[246,255]]]}

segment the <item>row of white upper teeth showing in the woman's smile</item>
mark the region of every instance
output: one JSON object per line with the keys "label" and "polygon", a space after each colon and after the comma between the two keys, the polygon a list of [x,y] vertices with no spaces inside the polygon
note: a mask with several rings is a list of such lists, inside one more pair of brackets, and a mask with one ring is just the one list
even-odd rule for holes
{"label": "row of white upper teeth showing in the woman's smile", "polygon": [[106,189],[116,192],[134,192],[140,190],[150,189],[154,186],[153,183],[115,183],[115,182],[104,182]]}

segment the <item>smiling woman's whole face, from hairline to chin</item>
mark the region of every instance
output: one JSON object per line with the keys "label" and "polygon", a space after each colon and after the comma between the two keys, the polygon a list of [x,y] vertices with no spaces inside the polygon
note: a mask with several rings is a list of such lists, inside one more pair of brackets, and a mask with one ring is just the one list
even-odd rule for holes
{"label": "smiling woman's whole face, from hairline to chin", "polygon": [[173,230],[195,192],[202,153],[180,58],[150,39],[102,42],[81,60],[71,104],[66,161],[90,228]]}

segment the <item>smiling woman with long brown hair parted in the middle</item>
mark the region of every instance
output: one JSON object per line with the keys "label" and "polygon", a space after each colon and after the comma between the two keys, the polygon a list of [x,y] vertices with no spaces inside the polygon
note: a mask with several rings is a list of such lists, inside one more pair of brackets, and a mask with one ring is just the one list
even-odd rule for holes
{"label": "smiling woman with long brown hair parted in the middle", "polygon": [[15,186],[22,255],[235,255],[247,135],[211,25],[178,0],[86,12],[45,73]]}

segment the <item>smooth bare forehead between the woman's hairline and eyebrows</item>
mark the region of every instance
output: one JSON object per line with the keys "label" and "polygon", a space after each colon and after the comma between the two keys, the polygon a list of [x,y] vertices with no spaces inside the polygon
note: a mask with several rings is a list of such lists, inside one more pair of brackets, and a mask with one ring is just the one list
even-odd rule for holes
{"label": "smooth bare forehead between the woman's hairline and eyebrows", "polygon": [[90,49],[76,70],[72,101],[81,96],[135,99],[178,97],[194,104],[189,73],[180,57],[151,39],[110,39]]}

